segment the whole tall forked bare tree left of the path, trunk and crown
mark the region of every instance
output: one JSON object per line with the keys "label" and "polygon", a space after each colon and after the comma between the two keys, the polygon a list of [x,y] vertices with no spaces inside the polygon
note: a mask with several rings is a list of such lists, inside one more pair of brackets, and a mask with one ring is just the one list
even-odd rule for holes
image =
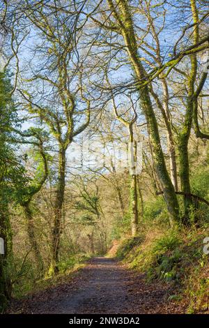
{"label": "whole tall forked bare tree left of the path, trunk and crown", "polygon": [[[57,272],[66,151],[72,140],[89,124],[90,101],[82,87],[82,63],[77,57],[79,35],[75,37],[75,24],[79,13],[68,17],[64,13],[59,15],[54,7],[36,6],[36,10],[29,7],[26,15],[40,41],[33,53],[38,54],[42,66],[35,72],[32,69],[31,77],[24,79],[28,90],[18,91],[24,101],[24,110],[35,114],[40,124],[45,124],[56,140],[59,163],[52,231],[52,269]],[[37,89],[34,89],[35,84]]]}

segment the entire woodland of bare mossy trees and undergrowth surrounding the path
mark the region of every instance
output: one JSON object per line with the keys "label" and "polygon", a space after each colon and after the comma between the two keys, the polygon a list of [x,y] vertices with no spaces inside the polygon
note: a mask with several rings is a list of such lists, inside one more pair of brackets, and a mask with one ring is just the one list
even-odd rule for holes
{"label": "entire woodland of bare mossy trees and undergrowth surrounding the path", "polygon": [[208,310],[208,4],[1,1],[1,311],[113,245]]}

